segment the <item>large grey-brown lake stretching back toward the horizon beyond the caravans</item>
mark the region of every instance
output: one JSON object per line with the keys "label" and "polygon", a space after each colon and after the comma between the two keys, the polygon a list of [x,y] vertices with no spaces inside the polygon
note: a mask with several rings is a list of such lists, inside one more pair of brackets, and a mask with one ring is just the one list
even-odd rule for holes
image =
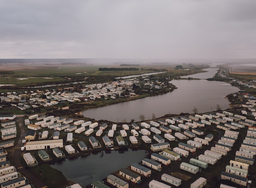
{"label": "large grey-brown lake stretching back toward the horizon beyond the caravans", "polygon": [[220,105],[222,110],[229,108],[229,101],[225,96],[238,92],[239,88],[225,82],[205,80],[212,78],[218,69],[205,70],[209,72],[190,75],[202,80],[171,81],[178,88],[173,92],[85,110],[81,114],[96,120],[130,122],[132,119],[140,121],[140,114],[146,119],[152,119],[152,114],[160,117],[164,114],[193,113],[193,108],[197,108],[199,113],[214,111],[217,105]]}

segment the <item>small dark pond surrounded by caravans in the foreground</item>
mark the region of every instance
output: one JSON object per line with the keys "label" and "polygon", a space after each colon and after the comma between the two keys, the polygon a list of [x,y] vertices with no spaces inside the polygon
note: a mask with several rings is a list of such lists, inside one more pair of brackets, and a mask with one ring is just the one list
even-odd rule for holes
{"label": "small dark pond surrounded by caravans in the foreground", "polygon": [[132,163],[139,163],[148,154],[145,150],[132,151],[128,149],[123,151],[120,153],[120,151],[111,150],[109,154],[102,151],[85,157],[58,161],[51,166],[63,172],[67,179],[86,186],[93,181],[101,181],[112,172],[126,168]]}

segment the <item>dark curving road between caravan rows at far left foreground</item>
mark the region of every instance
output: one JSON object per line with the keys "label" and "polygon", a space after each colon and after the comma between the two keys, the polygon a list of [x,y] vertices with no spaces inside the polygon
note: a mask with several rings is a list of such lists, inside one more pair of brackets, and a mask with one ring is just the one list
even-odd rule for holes
{"label": "dark curving road between caravan rows at far left foreground", "polygon": [[18,121],[18,124],[20,126],[20,138],[18,140],[17,145],[14,146],[15,150],[14,150],[13,155],[11,156],[11,157],[13,157],[14,166],[16,166],[17,171],[19,171],[22,175],[27,177],[27,179],[29,179],[29,181],[33,182],[32,184],[35,188],[44,187],[46,185],[42,180],[40,180],[36,175],[31,173],[26,168],[22,167],[22,164],[21,164],[21,161],[20,161],[22,159],[22,151],[20,150],[20,147],[23,146],[22,139],[24,138],[26,130],[24,128],[23,118],[16,118],[16,121]]}

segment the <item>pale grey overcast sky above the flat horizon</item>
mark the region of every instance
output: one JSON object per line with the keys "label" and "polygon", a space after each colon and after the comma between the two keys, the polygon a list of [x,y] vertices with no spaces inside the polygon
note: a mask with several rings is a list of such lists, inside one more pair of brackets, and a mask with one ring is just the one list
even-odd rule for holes
{"label": "pale grey overcast sky above the flat horizon", "polygon": [[0,0],[0,58],[256,58],[256,0]]}

